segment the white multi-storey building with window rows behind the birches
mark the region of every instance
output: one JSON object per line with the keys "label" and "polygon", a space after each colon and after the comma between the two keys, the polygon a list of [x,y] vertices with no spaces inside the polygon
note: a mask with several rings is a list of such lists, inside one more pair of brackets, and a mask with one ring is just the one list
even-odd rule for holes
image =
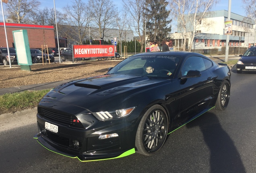
{"label": "white multi-storey building with window rows behind the birches", "polygon": [[[225,22],[227,21],[228,12],[226,10],[213,11],[205,18],[200,20],[196,27],[196,36],[194,37],[192,49],[211,49],[226,46],[227,35]],[[229,36],[229,46],[248,47],[256,44],[255,38],[255,21],[244,16],[231,12],[232,34]],[[188,26],[186,28],[189,28]],[[187,34],[191,34],[188,30]],[[248,35],[250,37],[248,37]],[[181,31],[169,34],[173,39],[173,46],[179,50],[183,46],[184,37]],[[190,42],[190,40],[188,40]],[[186,47],[188,47],[186,45]]]}

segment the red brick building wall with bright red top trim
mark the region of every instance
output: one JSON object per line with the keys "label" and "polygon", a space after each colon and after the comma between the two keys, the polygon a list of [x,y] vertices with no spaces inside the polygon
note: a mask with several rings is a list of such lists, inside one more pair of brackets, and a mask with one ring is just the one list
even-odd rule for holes
{"label": "red brick building wall with bright red top trim", "polygon": [[[41,48],[41,45],[47,45],[49,48],[56,47],[55,36],[54,36],[54,26],[6,23],[6,33],[7,33],[9,47],[12,47],[12,43],[14,43],[13,35],[12,35],[13,30],[27,30],[30,48]],[[1,23],[1,22],[0,22],[0,47],[6,47],[4,23]]]}

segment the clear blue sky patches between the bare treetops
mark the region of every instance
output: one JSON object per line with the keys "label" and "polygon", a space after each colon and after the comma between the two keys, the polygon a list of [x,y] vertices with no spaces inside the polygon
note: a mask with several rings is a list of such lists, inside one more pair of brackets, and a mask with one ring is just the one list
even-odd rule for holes
{"label": "clear blue sky patches between the bare treetops", "polygon": [[[39,0],[41,2],[41,8],[49,7],[54,8],[54,0]],[[85,0],[86,2],[87,0]],[[168,0],[167,0],[168,1]],[[62,8],[66,6],[68,3],[71,3],[72,0],[55,0],[56,10],[62,11]],[[115,4],[118,6],[118,11],[122,9],[122,0],[113,0]],[[219,3],[213,8],[214,11],[217,10],[228,10],[228,0],[219,0]],[[242,7],[241,0],[231,0],[231,12],[235,14],[239,14],[241,16],[246,16],[246,13]],[[115,15],[115,14],[113,14]],[[2,7],[0,8],[0,20],[2,18]]]}

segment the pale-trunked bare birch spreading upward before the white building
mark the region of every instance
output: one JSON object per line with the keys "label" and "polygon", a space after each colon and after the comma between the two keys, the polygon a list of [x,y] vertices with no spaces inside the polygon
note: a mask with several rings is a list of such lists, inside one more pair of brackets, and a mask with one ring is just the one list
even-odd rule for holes
{"label": "pale-trunked bare birch spreading upward before the white building", "polygon": [[[171,12],[173,14],[173,20],[177,21],[178,28],[182,30],[184,44],[183,50],[186,50],[187,40],[188,51],[191,51],[194,36],[196,33],[196,27],[202,21],[206,15],[209,15],[209,11],[217,0],[170,0]],[[192,30],[192,32],[190,32]],[[189,32],[188,32],[189,31]]]}

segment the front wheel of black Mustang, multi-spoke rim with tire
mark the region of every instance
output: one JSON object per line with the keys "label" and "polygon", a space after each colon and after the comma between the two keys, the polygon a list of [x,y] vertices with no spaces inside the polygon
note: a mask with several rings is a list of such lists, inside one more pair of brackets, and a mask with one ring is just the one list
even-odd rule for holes
{"label": "front wheel of black Mustang, multi-spoke rim with tire", "polygon": [[138,125],[135,147],[137,153],[153,155],[165,143],[169,120],[167,113],[160,105],[153,105],[143,115]]}

